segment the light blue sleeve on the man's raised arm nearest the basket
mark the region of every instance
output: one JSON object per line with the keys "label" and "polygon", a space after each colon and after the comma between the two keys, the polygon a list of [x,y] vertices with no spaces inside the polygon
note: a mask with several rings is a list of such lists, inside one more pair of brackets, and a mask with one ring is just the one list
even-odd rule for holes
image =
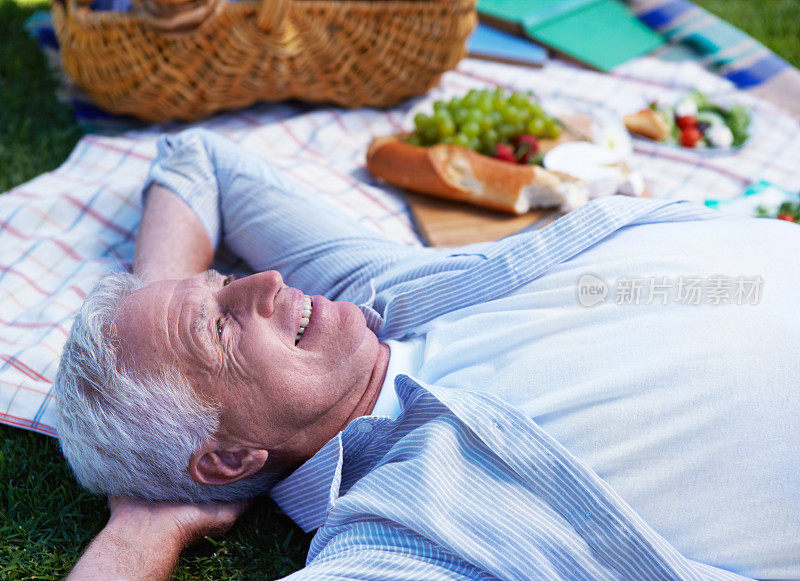
{"label": "light blue sleeve on the man's raised arm nearest the basket", "polygon": [[340,298],[398,261],[425,254],[372,232],[279,172],[205,129],[165,135],[144,186],[181,197],[216,250],[221,242],[256,271],[277,270],[308,294]]}

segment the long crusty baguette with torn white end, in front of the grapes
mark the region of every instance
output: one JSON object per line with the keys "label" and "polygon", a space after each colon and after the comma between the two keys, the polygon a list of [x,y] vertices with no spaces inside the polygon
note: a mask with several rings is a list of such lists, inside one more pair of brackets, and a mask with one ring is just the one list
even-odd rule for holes
{"label": "long crusty baguette with torn white end, in front of the grapes", "polygon": [[569,211],[588,200],[581,180],[494,159],[456,145],[418,147],[398,136],[378,137],[367,151],[367,169],[387,182],[424,194],[510,214],[559,206]]}

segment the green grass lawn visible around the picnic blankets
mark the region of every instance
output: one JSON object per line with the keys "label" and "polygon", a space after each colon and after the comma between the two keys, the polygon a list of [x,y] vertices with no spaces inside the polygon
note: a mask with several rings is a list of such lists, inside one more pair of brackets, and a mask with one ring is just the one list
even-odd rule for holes
{"label": "green grass lawn visible around the picnic blankets", "polygon": [[[800,66],[797,0],[698,0]],[[0,192],[66,159],[81,132],[55,99],[55,82],[24,21],[41,0],[0,0]],[[60,579],[106,519],[82,492],[57,442],[0,426],[0,580]],[[308,538],[262,502],[220,541],[185,554],[176,579],[268,579],[302,566]]]}

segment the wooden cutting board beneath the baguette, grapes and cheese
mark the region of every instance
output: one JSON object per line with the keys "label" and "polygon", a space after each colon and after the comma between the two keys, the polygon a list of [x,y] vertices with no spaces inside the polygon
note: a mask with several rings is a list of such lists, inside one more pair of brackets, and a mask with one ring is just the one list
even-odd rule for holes
{"label": "wooden cutting board beneath the baguette, grapes and cheese", "polygon": [[[564,125],[561,137],[541,140],[539,146],[543,151],[559,143],[590,139],[592,118],[588,115],[572,115],[560,121]],[[512,216],[411,192],[407,192],[406,197],[417,233],[429,246],[461,246],[496,240],[525,228],[546,226],[562,215],[549,208]]]}

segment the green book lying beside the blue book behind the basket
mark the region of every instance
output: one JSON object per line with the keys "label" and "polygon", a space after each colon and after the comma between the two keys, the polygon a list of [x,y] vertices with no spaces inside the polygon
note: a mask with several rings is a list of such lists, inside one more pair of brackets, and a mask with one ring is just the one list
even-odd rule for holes
{"label": "green book lying beside the blue book behind the basket", "polygon": [[601,71],[664,44],[618,0],[478,0],[481,18]]}

